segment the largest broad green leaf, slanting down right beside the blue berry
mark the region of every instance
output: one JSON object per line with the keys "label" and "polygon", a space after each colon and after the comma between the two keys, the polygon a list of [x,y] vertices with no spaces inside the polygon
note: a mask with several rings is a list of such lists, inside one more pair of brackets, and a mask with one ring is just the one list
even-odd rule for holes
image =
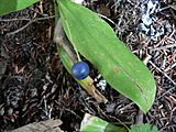
{"label": "largest broad green leaf, slanting down right beside the blue berry", "polygon": [[119,92],[146,112],[156,86],[150,70],[119,41],[108,23],[95,12],[69,0],[58,0],[68,40]]}

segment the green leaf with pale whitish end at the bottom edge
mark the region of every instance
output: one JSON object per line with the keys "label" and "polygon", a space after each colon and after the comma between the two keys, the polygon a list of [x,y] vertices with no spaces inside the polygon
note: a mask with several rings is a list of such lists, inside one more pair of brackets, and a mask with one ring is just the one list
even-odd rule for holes
{"label": "green leaf with pale whitish end at the bottom edge", "polygon": [[80,132],[127,132],[124,127],[116,127],[98,117],[85,114]]}

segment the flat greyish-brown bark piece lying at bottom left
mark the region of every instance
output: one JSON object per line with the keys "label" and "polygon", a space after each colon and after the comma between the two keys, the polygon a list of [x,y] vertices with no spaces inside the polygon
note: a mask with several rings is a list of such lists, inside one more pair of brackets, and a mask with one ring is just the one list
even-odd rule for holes
{"label": "flat greyish-brown bark piece lying at bottom left", "polygon": [[9,132],[64,132],[59,129],[61,120],[46,120],[26,124]]}

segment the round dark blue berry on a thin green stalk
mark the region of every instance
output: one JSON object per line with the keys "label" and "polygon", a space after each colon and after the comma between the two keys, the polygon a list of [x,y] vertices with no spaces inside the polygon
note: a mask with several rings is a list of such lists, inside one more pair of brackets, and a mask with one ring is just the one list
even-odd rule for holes
{"label": "round dark blue berry on a thin green stalk", "polygon": [[70,69],[72,74],[75,76],[77,79],[85,79],[86,77],[89,76],[89,66],[85,62],[78,62],[74,64],[74,66]]}

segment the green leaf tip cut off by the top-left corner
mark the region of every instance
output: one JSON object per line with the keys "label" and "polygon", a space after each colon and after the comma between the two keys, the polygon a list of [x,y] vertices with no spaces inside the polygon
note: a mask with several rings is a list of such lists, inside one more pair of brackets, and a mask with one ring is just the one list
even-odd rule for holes
{"label": "green leaf tip cut off by the top-left corner", "polygon": [[0,0],[0,15],[22,10],[40,0]]}

